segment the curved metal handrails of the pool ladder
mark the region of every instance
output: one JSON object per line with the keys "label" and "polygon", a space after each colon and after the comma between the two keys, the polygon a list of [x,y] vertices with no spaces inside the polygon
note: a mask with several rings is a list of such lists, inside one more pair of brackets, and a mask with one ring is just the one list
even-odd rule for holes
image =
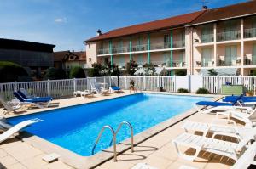
{"label": "curved metal handrails of the pool ladder", "polygon": [[109,125],[102,127],[102,130],[101,130],[101,132],[99,132],[99,135],[96,138],[96,142],[95,142],[95,144],[92,148],[91,155],[94,155],[94,150],[96,149],[96,145],[98,144],[98,142],[100,141],[100,138],[102,137],[102,133],[105,131],[105,129],[109,129],[111,131],[112,135],[113,135],[112,140],[110,142],[110,145],[113,143],[113,161],[117,161],[116,136],[117,136],[117,133],[119,132],[119,130],[121,129],[121,127],[124,124],[127,125],[128,127],[130,127],[130,129],[131,129],[131,152],[134,152],[134,149],[133,149],[134,148],[134,146],[133,146],[133,127],[131,126],[130,122],[122,121],[122,122],[119,123],[119,127],[116,130],[116,132],[114,132],[113,127],[111,127]]}

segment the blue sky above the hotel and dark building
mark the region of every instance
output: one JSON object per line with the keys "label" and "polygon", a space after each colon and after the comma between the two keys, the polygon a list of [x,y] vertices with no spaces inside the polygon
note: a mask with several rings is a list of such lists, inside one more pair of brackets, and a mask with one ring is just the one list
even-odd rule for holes
{"label": "blue sky above the hotel and dark building", "polygon": [[[206,0],[218,8],[246,0]],[[84,50],[83,41],[127,25],[201,10],[201,0],[0,0],[0,37]]]}

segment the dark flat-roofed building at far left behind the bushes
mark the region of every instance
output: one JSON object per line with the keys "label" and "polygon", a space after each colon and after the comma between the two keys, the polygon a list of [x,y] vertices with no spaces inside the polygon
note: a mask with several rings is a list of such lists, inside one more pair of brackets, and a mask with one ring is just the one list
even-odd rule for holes
{"label": "dark flat-roofed building at far left behind the bushes", "polygon": [[52,44],[0,38],[0,61],[20,64],[32,77],[41,78],[54,65],[53,48]]}

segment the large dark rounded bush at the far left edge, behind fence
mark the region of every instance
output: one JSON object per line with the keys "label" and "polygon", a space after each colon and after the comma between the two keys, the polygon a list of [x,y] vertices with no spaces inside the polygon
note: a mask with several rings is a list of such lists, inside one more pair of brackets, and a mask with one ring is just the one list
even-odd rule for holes
{"label": "large dark rounded bush at the far left edge, behind fence", "polygon": [[0,61],[0,82],[30,81],[24,67],[13,62]]}

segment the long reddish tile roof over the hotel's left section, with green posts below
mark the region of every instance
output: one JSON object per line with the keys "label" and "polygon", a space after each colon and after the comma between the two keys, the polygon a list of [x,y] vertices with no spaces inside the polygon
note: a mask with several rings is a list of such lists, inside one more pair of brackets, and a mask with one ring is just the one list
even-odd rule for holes
{"label": "long reddish tile roof over the hotel's left section, with green posts below", "polygon": [[119,29],[115,29],[113,31],[108,31],[107,33],[103,33],[101,36],[92,37],[84,42],[94,42],[103,39],[109,39],[113,37],[123,37],[129,36],[132,34],[143,33],[148,31],[157,31],[164,30],[166,28],[174,28],[182,25],[189,24],[193,20],[195,20],[198,16],[203,14],[204,11],[197,11],[190,14],[182,14],[178,16],[174,16],[171,18],[166,18],[163,20],[155,20],[151,22],[146,22],[138,25],[131,25]]}

